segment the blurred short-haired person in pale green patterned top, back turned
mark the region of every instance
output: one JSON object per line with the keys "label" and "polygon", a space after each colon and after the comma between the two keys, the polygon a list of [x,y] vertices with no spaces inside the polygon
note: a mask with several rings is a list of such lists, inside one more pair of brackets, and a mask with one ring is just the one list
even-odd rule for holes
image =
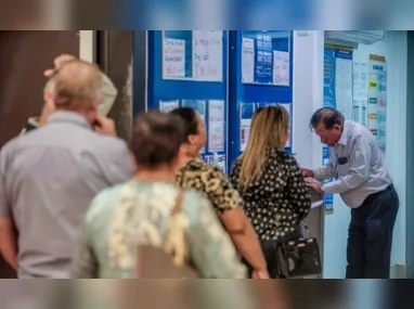
{"label": "blurred short-haired person in pale green patterned top, back turned", "polygon": [[137,118],[131,150],[138,172],[133,180],[106,189],[93,199],[74,278],[134,278],[140,245],[164,249],[176,203],[181,203],[186,236],[186,241],[174,239],[176,252],[187,246],[187,259],[202,278],[245,278],[246,269],[210,203],[176,185],[184,142],[179,117],[152,112]]}

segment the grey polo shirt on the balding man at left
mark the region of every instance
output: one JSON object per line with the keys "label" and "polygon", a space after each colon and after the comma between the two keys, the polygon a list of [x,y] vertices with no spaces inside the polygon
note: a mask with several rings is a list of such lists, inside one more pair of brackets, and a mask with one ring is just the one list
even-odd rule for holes
{"label": "grey polo shirt on the balding man at left", "polygon": [[133,177],[127,144],[55,112],[0,153],[0,217],[18,232],[20,278],[68,278],[79,229],[101,190]]}

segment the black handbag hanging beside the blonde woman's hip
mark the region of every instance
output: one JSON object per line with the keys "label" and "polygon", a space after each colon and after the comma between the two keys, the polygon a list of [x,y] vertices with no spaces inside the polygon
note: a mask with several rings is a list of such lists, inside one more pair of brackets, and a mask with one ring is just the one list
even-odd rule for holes
{"label": "black handbag hanging beside the blonde woman's hip", "polygon": [[312,237],[305,222],[302,227],[302,231],[307,231],[309,237],[277,242],[276,259],[280,278],[303,278],[322,273],[318,241]]}

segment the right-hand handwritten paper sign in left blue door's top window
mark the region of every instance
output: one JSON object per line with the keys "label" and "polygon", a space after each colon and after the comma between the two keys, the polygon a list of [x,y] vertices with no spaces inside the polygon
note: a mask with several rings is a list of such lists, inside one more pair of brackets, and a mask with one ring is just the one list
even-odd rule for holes
{"label": "right-hand handwritten paper sign in left blue door's top window", "polygon": [[193,78],[223,80],[223,31],[193,31]]}

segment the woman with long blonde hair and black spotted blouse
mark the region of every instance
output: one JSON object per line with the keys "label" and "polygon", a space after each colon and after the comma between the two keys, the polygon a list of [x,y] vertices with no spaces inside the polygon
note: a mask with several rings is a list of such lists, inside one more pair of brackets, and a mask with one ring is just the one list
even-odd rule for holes
{"label": "woman with long blonde hair and black spotted blouse", "polygon": [[300,168],[284,151],[288,128],[289,115],[283,106],[258,108],[246,151],[230,176],[259,236],[271,278],[277,276],[274,240],[299,237],[299,223],[311,205]]}

